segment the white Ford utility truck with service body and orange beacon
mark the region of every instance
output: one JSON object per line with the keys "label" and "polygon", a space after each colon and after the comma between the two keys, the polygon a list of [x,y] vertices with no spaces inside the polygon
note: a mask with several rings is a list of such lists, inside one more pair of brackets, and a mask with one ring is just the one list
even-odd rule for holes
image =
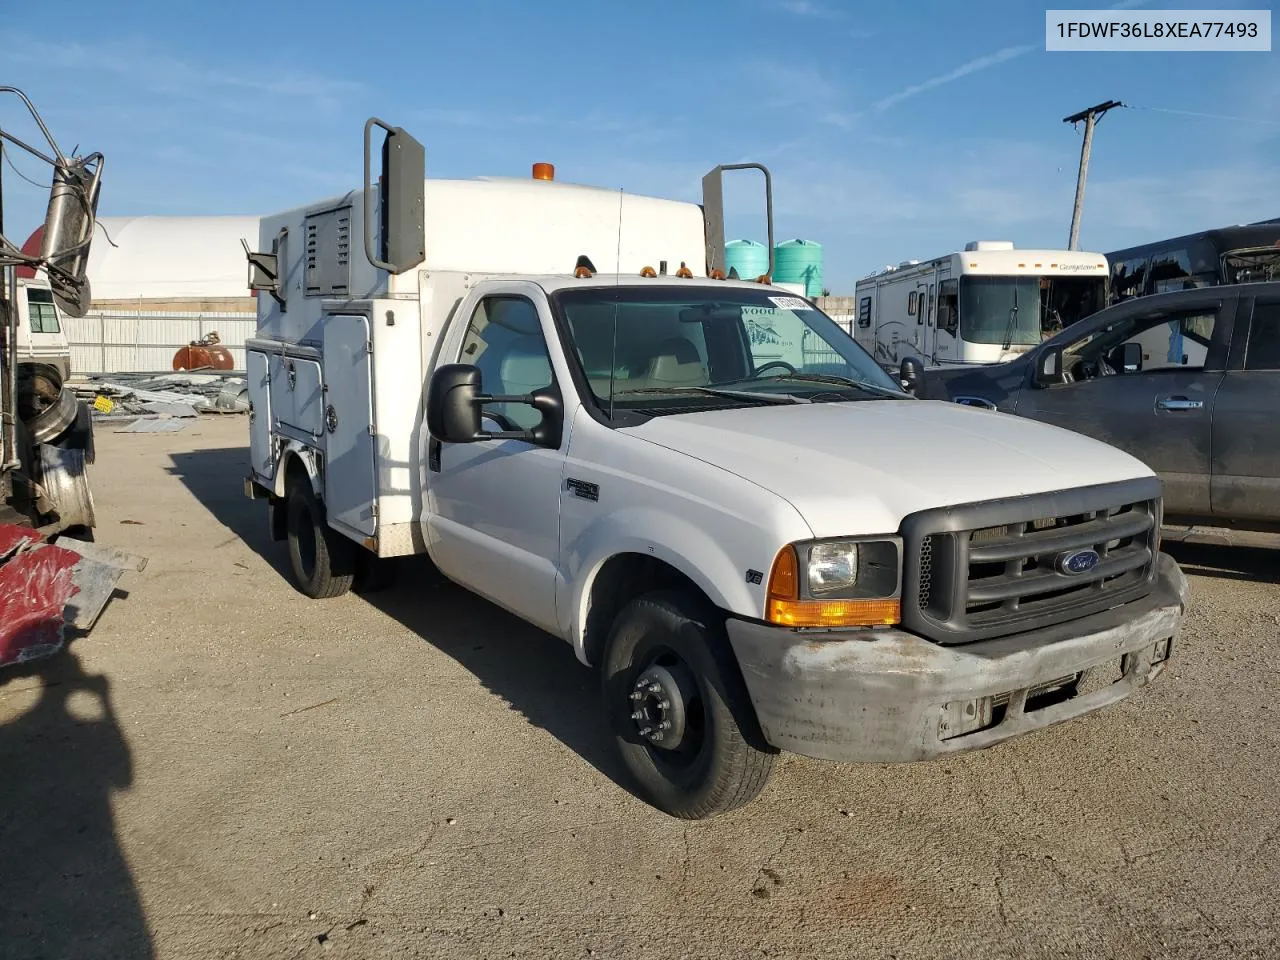
{"label": "white Ford utility truck with service body and orange beacon", "polygon": [[696,205],[422,157],[371,119],[365,189],[250,253],[246,493],[305,594],[428,554],[599,669],[628,771],[687,818],[780,749],[950,755],[1164,671],[1187,584],[1152,472],[915,399],[809,301],[719,279],[737,165]]}

